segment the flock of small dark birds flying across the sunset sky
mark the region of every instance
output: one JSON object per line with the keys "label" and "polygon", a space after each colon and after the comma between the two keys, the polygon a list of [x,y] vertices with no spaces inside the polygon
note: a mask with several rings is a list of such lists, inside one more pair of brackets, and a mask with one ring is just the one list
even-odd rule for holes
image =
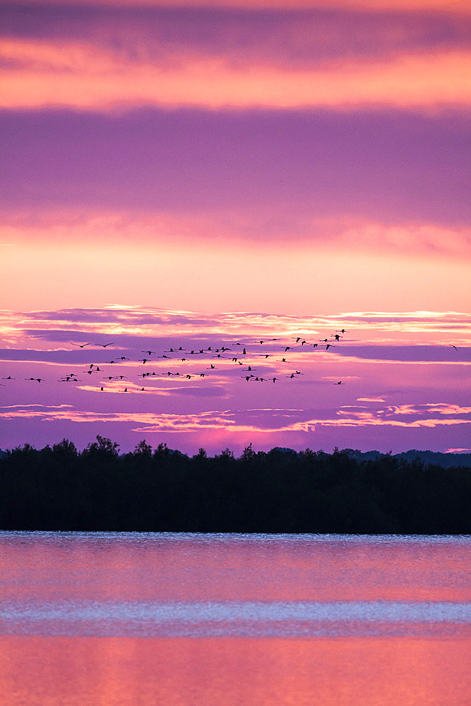
{"label": "flock of small dark birds flying across the sunset sky", "polygon": [[[191,378],[205,378],[207,376],[210,376],[211,371],[216,371],[217,366],[211,362],[211,359],[217,360],[217,361],[222,361],[222,360],[227,360],[227,361],[232,361],[232,364],[234,366],[246,366],[242,367],[241,372],[244,373],[240,377],[244,379],[246,382],[260,382],[260,383],[266,383],[266,382],[271,382],[271,383],[276,383],[277,381],[280,380],[280,377],[277,376],[271,376],[271,377],[264,377],[261,374],[256,375],[257,371],[257,366],[254,364],[254,359],[257,357],[263,358],[267,363],[268,359],[270,357],[273,357],[275,355],[280,355],[280,358],[275,359],[276,362],[280,364],[289,364],[290,361],[287,360],[287,357],[285,354],[287,354],[289,351],[295,352],[297,349],[302,348],[309,348],[312,347],[313,351],[316,349],[325,349],[328,351],[330,348],[335,347],[335,344],[337,342],[340,342],[340,339],[344,336],[345,333],[348,333],[345,328],[342,328],[338,331],[335,331],[335,333],[330,334],[329,338],[323,338],[319,340],[318,342],[308,342],[306,339],[304,339],[302,336],[293,336],[292,340],[294,342],[291,343],[291,345],[285,345],[285,343],[281,342],[280,338],[268,338],[264,340],[257,340],[254,342],[251,342],[249,344],[247,343],[242,343],[242,342],[237,342],[233,343],[229,346],[225,345],[220,345],[218,348],[214,348],[212,346],[208,346],[207,348],[200,348],[200,349],[192,349],[187,351],[183,346],[179,347],[170,347],[169,349],[165,350],[162,352],[162,354],[159,354],[157,351],[153,350],[143,350],[141,351],[142,353],[145,354],[145,357],[138,359],[137,362],[140,362],[142,366],[146,366],[148,363],[153,363],[154,361],[156,362],[157,360],[161,361],[174,361],[175,363],[186,363],[187,361],[191,361],[193,359],[196,359],[196,357],[200,357],[205,359],[208,362],[210,362],[209,367],[205,368],[205,371],[203,372],[181,372],[179,370],[177,371],[171,371],[167,370],[164,372],[156,372],[156,371],[148,371],[143,368],[143,371],[138,375],[138,378],[142,378],[141,385],[144,384],[144,381],[150,381],[152,379],[155,379],[157,377],[166,377],[166,378],[172,378],[176,377],[179,378],[180,380],[191,380]],[[335,341],[335,343],[333,343]],[[271,345],[272,347],[277,347],[279,348],[278,352],[270,352],[266,353],[260,352],[260,349],[258,351],[253,351],[251,348],[254,345],[258,346],[264,346],[265,349],[267,348],[267,344]],[[108,349],[109,347],[115,345],[115,342],[107,342],[107,343],[94,343],[94,342],[86,342],[86,343],[76,343],[76,342],[71,342],[71,345],[74,347],[80,348],[80,349],[85,349],[88,346],[97,346],[97,347],[102,347],[104,349]],[[167,355],[171,354],[171,355]],[[95,364],[95,363],[87,363],[86,365],[86,370],[81,371],[82,374],[90,376],[90,378],[93,376],[97,376],[99,373],[109,373],[109,369],[100,367],[100,366],[114,366],[114,369],[116,370],[117,366],[119,364],[121,365],[126,365],[127,361],[130,363],[132,362],[131,359],[129,359],[126,356],[117,356],[114,357],[111,360],[105,361],[105,363],[101,364]],[[279,366],[278,366],[279,367]],[[210,372],[206,372],[210,371]],[[268,374],[268,373],[265,373]],[[288,378],[290,380],[293,380],[294,378],[297,378],[298,376],[304,375],[302,371],[300,370],[294,370],[290,371],[287,375],[285,375],[285,378]],[[16,380],[16,378],[13,378],[11,375],[8,375],[4,378],[2,378],[4,381],[13,381]],[[34,378],[34,377],[29,377],[29,378],[24,378],[26,381],[32,381],[32,382],[37,382],[37,383],[42,383],[44,382],[44,378]],[[102,374],[100,378],[100,383],[97,385],[97,390],[100,392],[106,392],[107,390],[111,388],[107,388],[107,382],[110,383],[111,381],[126,381],[127,376],[124,374],[115,374],[115,375],[109,375],[109,374]],[[105,381],[105,382],[102,382]],[[59,378],[57,382],[61,383],[80,383],[81,378],[78,377],[78,375],[74,372],[68,373],[67,375],[62,376]],[[0,383],[0,385],[4,386],[6,383]],[[7,383],[8,384],[8,383]],[[336,383],[333,383],[334,385],[343,385],[343,381],[338,381]],[[145,388],[141,386],[139,388],[138,386],[135,387],[134,385],[128,385],[126,386],[126,382],[123,383],[124,389],[120,389],[120,392],[124,393],[129,393],[131,392],[131,389],[133,390],[141,390],[145,391]],[[113,391],[117,391],[115,388],[113,388]]]}

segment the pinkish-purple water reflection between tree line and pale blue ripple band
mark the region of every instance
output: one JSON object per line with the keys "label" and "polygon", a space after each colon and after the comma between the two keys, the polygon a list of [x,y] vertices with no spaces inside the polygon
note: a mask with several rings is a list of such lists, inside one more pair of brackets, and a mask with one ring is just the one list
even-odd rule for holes
{"label": "pinkish-purple water reflection between tree line and pale blue ripple band", "polygon": [[[469,544],[446,538],[6,533],[4,599],[456,601]],[[209,539],[208,539],[209,538]]]}

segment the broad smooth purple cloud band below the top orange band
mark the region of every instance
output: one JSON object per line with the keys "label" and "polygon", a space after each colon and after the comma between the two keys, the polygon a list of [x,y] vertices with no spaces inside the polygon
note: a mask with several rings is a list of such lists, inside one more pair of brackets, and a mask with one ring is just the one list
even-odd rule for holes
{"label": "broad smooth purple cloud band below the top orange band", "polygon": [[11,111],[0,128],[6,213],[209,211],[247,239],[299,230],[313,242],[326,227],[306,236],[306,219],[461,226],[468,215],[459,112]]}

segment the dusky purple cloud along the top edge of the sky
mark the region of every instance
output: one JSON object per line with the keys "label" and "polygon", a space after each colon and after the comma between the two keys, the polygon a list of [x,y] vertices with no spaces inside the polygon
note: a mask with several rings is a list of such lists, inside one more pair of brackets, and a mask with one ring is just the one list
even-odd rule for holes
{"label": "dusky purple cloud along the top edge of the sky", "polygon": [[[181,52],[237,64],[306,68],[331,59],[467,47],[470,19],[440,12],[342,8],[144,8],[6,4],[5,37],[83,42],[129,63],[172,64]],[[138,40],[136,41],[136,37]]]}

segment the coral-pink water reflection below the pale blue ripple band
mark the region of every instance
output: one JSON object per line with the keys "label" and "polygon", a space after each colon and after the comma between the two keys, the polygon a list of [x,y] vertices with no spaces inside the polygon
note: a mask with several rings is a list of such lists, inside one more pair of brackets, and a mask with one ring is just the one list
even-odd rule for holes
{"label": "coral-pink water reflection below the pale blue ripple band", "polygon": [[468,706],[468,666],[462,640],[0,638],[9,706]]}

